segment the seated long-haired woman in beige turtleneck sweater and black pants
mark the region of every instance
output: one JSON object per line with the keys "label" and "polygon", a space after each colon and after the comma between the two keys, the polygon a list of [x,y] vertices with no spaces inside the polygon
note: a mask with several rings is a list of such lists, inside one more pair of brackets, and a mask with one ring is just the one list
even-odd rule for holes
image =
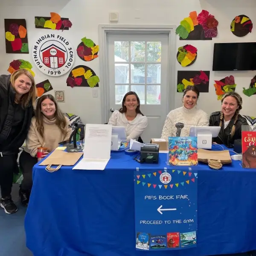
{"label": "seated long-haired woman in beige turtleneck sweater and black pants", "polygon": [[69,119],[61,112],[55,98],[43,95],[38,99],[35,116],[32,118],[26,147],[20,154],[20,169],[23,181],[20,185],[20,198],[23,205],[28,204],[32,188],[32,169],[38,162],[36,157],[39,147],[47,148],[45,157],[58,147],[58,143],[68,140],[72,133]]}

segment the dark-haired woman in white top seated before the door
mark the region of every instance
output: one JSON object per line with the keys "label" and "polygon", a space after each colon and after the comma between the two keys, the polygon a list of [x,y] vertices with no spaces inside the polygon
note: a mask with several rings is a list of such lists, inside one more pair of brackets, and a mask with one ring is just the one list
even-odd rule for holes
{"label": "dark-haired woman in white top seated before the door", "polygon": [[123,126],[127,140],[137,140],[148,125],[148,119],[140,111],[140,99],[135,92],[128,92],[122,100],[122,108],[112,113],[108,124]]}

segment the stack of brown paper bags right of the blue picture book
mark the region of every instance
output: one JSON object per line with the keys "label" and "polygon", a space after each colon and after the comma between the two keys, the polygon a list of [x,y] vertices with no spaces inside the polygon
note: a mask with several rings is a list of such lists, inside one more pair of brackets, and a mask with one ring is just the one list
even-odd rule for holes
{"label": "stack of brown paper bags right of the blue picture book", "polygon": [[228,150],[212,151],[198,148],[198,161],[208,163],[208,160],[220,160],[222,164],[232,163],[230,152]]}

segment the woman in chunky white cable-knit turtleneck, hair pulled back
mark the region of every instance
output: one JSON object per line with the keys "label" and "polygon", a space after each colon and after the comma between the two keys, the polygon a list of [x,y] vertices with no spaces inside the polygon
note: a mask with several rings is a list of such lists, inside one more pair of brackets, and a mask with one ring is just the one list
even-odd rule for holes
{"label": "woman in chunky white cable-knit turtleneck, hair pulled back", "polygon": [[201,109],[196,108],[199,90],[196,86],[187,86],[183,92],[181,108],[176,108],[167,115],[161,138],[168,141],[168,137],[176,137],[175,124],[183,123],[181,137],[189,136],[191,126],[209,126],[209,116]]}

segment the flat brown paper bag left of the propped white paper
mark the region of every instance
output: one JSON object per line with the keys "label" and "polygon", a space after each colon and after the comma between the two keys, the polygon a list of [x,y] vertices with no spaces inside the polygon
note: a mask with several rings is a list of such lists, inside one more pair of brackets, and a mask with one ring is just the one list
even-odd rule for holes
{"label": "flat brown paper bag left of the propped white paper", "polygon": [[39,165],[49,166],[49,165],[58,165],[58,166],[73,166],[83,155],[82,152],[69,153],[62,150],[55,149],[52,154],[49,155],[42,163]]}

